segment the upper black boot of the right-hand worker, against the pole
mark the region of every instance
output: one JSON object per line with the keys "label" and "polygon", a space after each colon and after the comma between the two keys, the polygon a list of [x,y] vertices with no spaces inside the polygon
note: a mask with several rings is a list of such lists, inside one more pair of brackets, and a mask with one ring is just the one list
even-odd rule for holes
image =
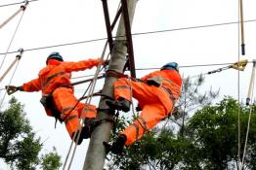
{"label": "upper black boot of the right-hand worker, against the pole", "polygon": [[119,98],[117,101],[107,100],[106,104],[111,109],[123,111],[123,112],[129,112],[130,106],[131,106],[131,102],[124,98]]}

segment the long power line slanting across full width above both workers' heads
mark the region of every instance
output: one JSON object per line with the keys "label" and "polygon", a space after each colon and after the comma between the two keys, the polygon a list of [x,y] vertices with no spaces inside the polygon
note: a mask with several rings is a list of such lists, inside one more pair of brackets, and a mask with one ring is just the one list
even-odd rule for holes
{"label": "long power line slanting across full width above both workers' heads", "polygon": [[[244,22],[255,22],[256,19],[251,20],[244,20]],[[214,26],[223,26],[223,25],[230,25],[230,24],[237,24],[238,21],[233,22],[223,22],[223,23],[216,23],[216,24],[208,24],[208,25],[199,25],[199,26],[190,26],[190,27],[182,27],[182,28],[174,28],[174,29],[164,29],[164,30],[158,30],[158,31],[149,31],[149,32],[141,32],[141,33],[134,33],[133,36],[139,36],[139,35],[147,35],[147,34],[157,34],[157,33],[164,33],[164,32],[173,32],[173,31],[182,31],[182,30],[189,30],[189,29],[198,29],[198,28],[206,28],[206,27],[214,27]],[[117,37],[113,37],[117,38]],[[64,47],[64,46],[71,46],[71,45],[78,45],[78,44],[85,44],[85,43],[92,43],[92,42],[98,42],[107,40],[107,38],[99,38],[99,39],[92,39],[92,40],[86,40],[86,41],[80,41],[80,42],[73,42],[73,43],[66,43],[66,44],[60,44],[60,45],[53,45],[53,46],[46,46],[46,47],[40,47],[40,48],[34,48],[34,49],[27,49],[24,51],[38,51],[38,50],[44,50],[44,49],[50,49],[50,48],[58,48],[58,47]],[[8,53],[15,53],[16,51],[9,51]],[[6,52],[1,52],[0,55],[6,54]]]}

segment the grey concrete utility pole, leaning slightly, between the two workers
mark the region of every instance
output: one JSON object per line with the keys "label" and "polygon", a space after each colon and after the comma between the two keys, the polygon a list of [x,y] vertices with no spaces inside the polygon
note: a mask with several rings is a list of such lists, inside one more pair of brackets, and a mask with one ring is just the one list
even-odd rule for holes
{"label": "grey concrete utility pole, leaning slightly, between the two workers", "polygon": [[[138,0],[126,0],[129,12],[130,25],[132,25],[132,20],[134,17],[137,1]],[[113,42],[113,49],[108,69],[122,73],[127,53],[127,43],[125,37],[123,15],[120,18],[120,22],[116,32],[116,37],[117,38]],[[115,80],[116,78],[113,77],[106,78],[103,93],[107,96],[113,97],[113,83],[115,82]],[[99,107],[101,109],[108,108],[108,106],[106,105],[106,99],[104,97],[101,98]],[[112,116],[108,115],[104,111],[99,111],[98,119],[112,119]],[[94,132],[90,140],[89,148],[86,154],[83,170],[104,169],[106,151],[103,142],[109,141],[111,127],[111,122],[104,121],[94,129]]]}

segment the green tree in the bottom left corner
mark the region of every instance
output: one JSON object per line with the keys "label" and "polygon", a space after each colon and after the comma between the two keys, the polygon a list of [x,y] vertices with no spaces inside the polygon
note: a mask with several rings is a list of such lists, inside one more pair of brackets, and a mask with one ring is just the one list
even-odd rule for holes
{"label": "green tree in the bottom left corner", "polygon": [[[9,108],[0,115],[0,158],[12,168],[36,169],[40,161],[44,162],[46,157],[42,157],[43,160],[38,157],[43,145],[40,138],[36,138],[35,133],[32,132],[32,127],[25,118],[23,106],[13,97],[9,101]],[[52,157],[61,166],[60,158],[56,158],[56,151],[54,150],[53,153]]]}

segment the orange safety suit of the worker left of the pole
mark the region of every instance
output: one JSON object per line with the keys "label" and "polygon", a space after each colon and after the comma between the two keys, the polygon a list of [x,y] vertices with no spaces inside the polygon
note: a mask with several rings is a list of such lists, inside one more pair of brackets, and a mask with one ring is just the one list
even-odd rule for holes
{"label": "orange safety suit of the worker left of the pole", "polygon": [[[47,66],[40,70],[38,78],[23,84],[22,90],[28,92],[42,90],[43,96],[52,95],[53,104],[61,113],[60,119],[64,120],[66,130],[72,139],[76,129],[81,128],[79,118],[95,118],[97,111],[94,105],[78,102],[73,93],[70,73],[91,69],[101,61],[101,59],[88,59],[78,62],[63,62],[50,59]],[[48,116],[54,116],[49,108],[45,108],[45,110]]]}

